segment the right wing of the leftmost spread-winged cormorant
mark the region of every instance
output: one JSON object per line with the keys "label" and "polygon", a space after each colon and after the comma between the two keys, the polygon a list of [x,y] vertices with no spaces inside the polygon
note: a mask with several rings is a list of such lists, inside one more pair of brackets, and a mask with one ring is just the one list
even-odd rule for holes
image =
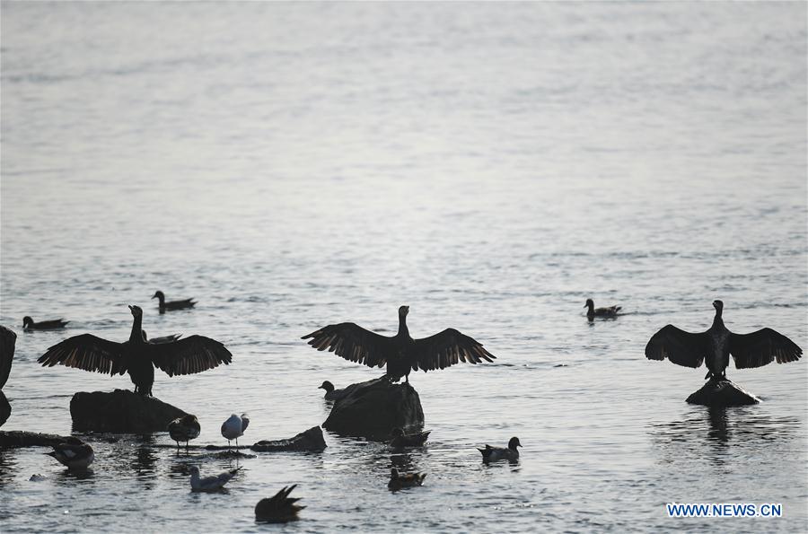
{"label": "right wing of the leftmost spread-winged cormorant", "polygon": [[169,376],[203,372],[218,367],[219,363],[226,365],[233,361],[233,355],[224,345],[204,336],[189,336],[160,345],[149,344],[144,348],[154,366]]}

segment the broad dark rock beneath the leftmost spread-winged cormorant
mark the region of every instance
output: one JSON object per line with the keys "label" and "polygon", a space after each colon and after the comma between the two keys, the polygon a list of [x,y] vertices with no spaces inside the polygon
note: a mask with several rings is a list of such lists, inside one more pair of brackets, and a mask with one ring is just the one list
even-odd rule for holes
{"label": "broad dark rock beneath the leftmost spread-winged cormorant", "polygon": [[81,432],[165,432],[171,421],[187,415],[162,400],[129,390],[79,391],[70,400],[73,428]]}

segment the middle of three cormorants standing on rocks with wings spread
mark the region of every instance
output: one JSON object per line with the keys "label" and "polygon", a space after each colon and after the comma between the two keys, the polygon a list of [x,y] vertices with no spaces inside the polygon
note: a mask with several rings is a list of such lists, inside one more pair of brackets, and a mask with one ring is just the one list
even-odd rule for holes
{"label": "middle of three cormorants standing on rocks with wings spread", "polygon": [[309,345],[317,350],[328,348],[329,352],[368,367],[382,367],[386,363],[386,374],[391,381],[404,377],[407,383],[410,371],[422,369],[426,372],[458,362],[480,363],[496,359],[479,342],[454,328],[446,328],[423,339],[409,337],[408,312],[409,306],[399,308],[399,333],[393,337],[365,330],[352,322],[343,322],[315,330],[301,339],[311,337]]}

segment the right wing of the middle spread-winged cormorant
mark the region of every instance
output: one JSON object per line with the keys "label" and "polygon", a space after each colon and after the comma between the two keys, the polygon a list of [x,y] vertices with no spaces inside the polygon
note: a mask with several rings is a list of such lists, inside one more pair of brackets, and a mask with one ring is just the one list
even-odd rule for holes
{"label": "right wing of the middle spread-winged cormorant", "polygon": [[459,362],[492,362],[496,356],[489,353],[478,341],[461,334],[454,328],[446,328],[435,336],[415,340],[415,357],[412,369],[432,371],[444,369]]}

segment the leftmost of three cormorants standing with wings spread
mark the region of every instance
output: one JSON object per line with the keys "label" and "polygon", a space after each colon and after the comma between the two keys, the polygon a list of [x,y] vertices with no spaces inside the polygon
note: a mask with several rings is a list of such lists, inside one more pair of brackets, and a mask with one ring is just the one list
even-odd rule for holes
{"label": "leftmost of three cormorants standing with wings spread", "polygon": [[48,367],[60,363],[110,375],[127,372],[135,384],[135,392],[151,396],[154,367],[174,376],[207,371],[233,360],[230,351],[210,337],[189,336],[158,345],[147,343],[141,331],[143,310],[138,306],[129,306],[129,310],[134,320],[128,341],[117,343],[92,334],[68,337],[48,348],[37,362]]}

